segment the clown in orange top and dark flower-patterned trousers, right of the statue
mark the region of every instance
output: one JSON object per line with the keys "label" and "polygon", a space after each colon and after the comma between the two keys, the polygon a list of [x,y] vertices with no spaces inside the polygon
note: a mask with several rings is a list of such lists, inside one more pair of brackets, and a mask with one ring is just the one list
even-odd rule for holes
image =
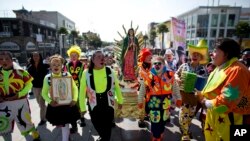
{"label": "clown in orange top and dark flower-patterned trousers, right of the statue", "polygon": [[[140,93],[146,95],[146,103],[151,122],[151,133],[153,141],[163,139],[165,124],[170,118],[171,98],[175,96],[176,105],[181,105],[181,96],[178,93],[178,84],[174,79],[174,72],[167,70],[164,65],[164,58],[153,57],[153,67],[144,79],[144,88]],[[173,95],[172,95],[173,94]]]}

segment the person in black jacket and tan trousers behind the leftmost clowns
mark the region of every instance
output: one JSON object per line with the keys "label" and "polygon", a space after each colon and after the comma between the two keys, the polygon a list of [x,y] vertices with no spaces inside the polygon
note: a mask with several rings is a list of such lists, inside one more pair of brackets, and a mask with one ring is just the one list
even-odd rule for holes
{"label": "person in black jacket and tan trousers behind the leftmost clowns", "polygon": [[39,52],[33,52],[30,59],[30,64],[27,67],[27,71],[34,78],[32,81],[33,88],[32,92],[36,97],[36,101],[40,107],[40,122],[39,126],[46,124],[46,105],[42,98],[42,87],[43,79],[45,75],[49,72],[49,65],[43,63],[42,55]]}

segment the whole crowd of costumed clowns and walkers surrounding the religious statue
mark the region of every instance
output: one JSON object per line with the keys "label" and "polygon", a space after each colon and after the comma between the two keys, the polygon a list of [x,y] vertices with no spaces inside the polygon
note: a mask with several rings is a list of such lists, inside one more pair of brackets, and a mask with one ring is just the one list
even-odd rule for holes
{"label": "whole crowd of costumed clowns and walkers surrounding the religious statue", "polygon": [[39,52],[33,52],[24,70],[10,52],[1,51],[0,135],[11,141],[13,125],[17,124],[23,136],[31,134],[34,141],[40,140],[27,99],[32,90],[40,107],[38,126],[49,122],[60,127],[62,141],[69,141],[70,134],[78,132],[77,121],[85,127],[88,111],[100,136],[98,141],[110,141],[115,105],[119,110],[124,101],[122,80],[137,83],[138,108],[145,111],[138,126],[144,128],[145,122],[150,122],[152,141],[167,138],[165,125],[175,107],[180,109],[183,141],[192,139],[189,127],[198,111],[206,141],[228,141],[230,125],[250,124],[249,50],[241,51],[232,39],[221,39],[209,55],[202,39],[187,46],[188,56],[171,49],[160,56],[149,48],[140,49],[134,33],[130,29],[124,39],[121,64],[113,54],[101,50],[88,60],[81,56],[80,47],[73,45],[67,51],[68,62],[55,54],[47,64]]}

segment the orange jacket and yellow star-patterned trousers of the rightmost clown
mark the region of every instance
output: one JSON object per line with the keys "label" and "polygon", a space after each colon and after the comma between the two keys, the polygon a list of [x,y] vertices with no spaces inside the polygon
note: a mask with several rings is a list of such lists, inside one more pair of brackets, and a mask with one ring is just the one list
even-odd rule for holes
{"label": "orange jacket and yellow star-patterned trousers of the rightmost clown", "polygon": [[[250,72],[232,58],[209,76],[202,95],[210,101],[204,133],[207,141],[229,141],[230,125],[242,125],[250,111]],[[217,120],[214,120],[217,119]]]}

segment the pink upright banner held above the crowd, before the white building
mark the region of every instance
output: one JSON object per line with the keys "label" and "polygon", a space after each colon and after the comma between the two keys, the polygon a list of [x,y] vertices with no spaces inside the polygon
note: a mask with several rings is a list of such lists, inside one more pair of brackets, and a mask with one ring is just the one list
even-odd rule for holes
{"label": "pink upright banner held above the crowd, before the white building", "polygon": [[172,35],[173,35],[173,47],[175,49],[182,47],[186,50],[186,25],[185,21],[172,17]]}

